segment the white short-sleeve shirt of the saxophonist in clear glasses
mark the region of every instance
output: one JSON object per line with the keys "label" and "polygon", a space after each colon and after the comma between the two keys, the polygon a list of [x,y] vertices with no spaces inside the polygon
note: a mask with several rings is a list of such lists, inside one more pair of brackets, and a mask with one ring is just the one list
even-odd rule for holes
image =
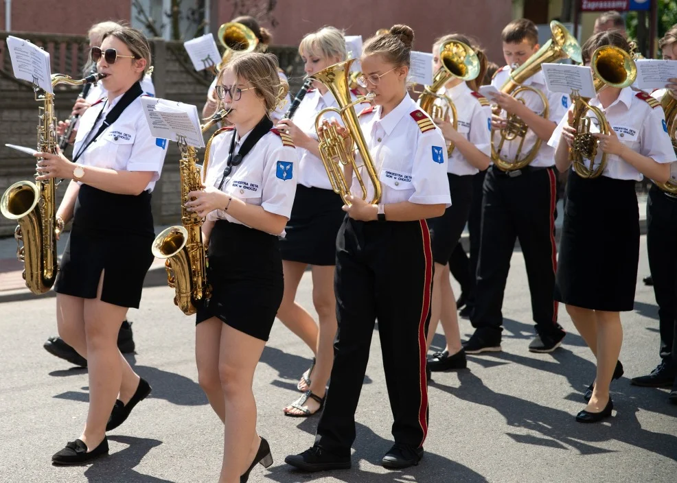
{"label": "white short-sleeve shirt of the saxophonist in clear glasses", "polygon": [[[235,130],[228,128],[214,138],[209,152],[205,185],[218,188],[221,184],[231,139],[235,133]],[[233,153],[240,150],[250,133],[251,131],[236,140]],[[283,144],[279,134],[274,131],[267,132],[244,156],[242,163],[232,167],[220,189],[233,198],[289,219],[296,194],[297,165],[296,149],[288,143]],[[223,210],[212,211],[207,215],[207,220],[228,220],[243,224]],[[273,235],[284,235],[284,231]]]}

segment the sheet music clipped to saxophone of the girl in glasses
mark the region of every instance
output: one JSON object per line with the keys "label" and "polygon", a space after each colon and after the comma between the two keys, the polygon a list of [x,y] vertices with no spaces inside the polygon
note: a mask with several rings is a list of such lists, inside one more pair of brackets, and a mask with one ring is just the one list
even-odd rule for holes
{"label": "sheet music clipped to saxophone of the girl in glasses", "polygon": [[154,97],[141,97],[141,104],[154,137],[185,142],[196,148],[205,147],[195,106]]}

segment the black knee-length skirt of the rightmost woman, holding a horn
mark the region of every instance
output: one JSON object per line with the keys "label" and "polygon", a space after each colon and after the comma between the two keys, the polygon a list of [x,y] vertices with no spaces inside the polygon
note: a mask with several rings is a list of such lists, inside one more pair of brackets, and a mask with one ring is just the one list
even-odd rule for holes
{"label": "black knee-length skirt of the rightmost woman, holding a horn", "polygon": [[633,180],[584,179],[573,170],[554,298],[584,309],[629,311],[639,263],[639,208]]}

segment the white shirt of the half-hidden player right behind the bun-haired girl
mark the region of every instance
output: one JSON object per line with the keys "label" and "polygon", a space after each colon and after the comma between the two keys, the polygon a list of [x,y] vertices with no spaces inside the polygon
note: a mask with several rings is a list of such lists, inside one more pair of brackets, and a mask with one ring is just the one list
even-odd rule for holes
{"label": "white shirt of the half-hidden player right behind the bun-haired girl", "polygon": [[[472,91],[466,82],[461,82],[451,89],[443,86],[437,94],[450,97],[454,103],[459,134],[463,134],[463,137],[474,144],[475,148],[491,156],[492,110],[487,99]],[[446,106],[446,102],[439,98],[435,99],[435,104],[441,107]],[[447,141],[446,145],[450,145],[450,141]],[[458,176],[479,173],[479,169],[468,163],[458,148],[451,153],[447,171]]]}

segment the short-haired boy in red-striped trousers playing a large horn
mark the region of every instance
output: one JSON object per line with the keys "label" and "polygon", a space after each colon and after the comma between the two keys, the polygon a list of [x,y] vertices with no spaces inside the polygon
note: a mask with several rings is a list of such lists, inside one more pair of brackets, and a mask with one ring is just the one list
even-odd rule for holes
{"label": "short-haired boy in red-striped trousers playing a large horn", "polygon": [[[496,72],[492,85],[501,89],[510,75],[512,64],[523,64],[538,51],[538,30],[533,22],[519,19],[509,23],[501,34],[503,56],[507,66]],[[536,322],[536,338],[529,351],[552,352],[560,346],[564,330],[557,322],[558,305],[553,302],[557,253],[555,248],[555,217],[557,211],[557,177],[554,171],[553,152],[545,143],[550,139],[556,123],[562,119],[569,106],[569,96],[548,91],[542,71],[523,82],[541,91],[549,104],[546,119],[532,108],[542,102],[536,93],[524,93],[525,103],[514,97],[498,93],[494,102],[506,113],[517,115],[527,124],[522,152],[533,148],[537,137],[544,141],[535,158],[523,169],[505,172],[492,165],[487,171],[483,187],[482,226],[475,303],[470,322],[476,330],[463,343],[468,354],[501,351],[503,330],[503,294],[510,268],[515,239],[519,239],[525,263],[531,310]],[[533,106],[532,106],[533,104]],[[538,107],[537,107],[538,106]],[[505,126],[505,118],[494,116],[496,130]],[[494,142],[498,139],[494,132]],[[520,138],[505,141],[503,149],[517,152]]]}

